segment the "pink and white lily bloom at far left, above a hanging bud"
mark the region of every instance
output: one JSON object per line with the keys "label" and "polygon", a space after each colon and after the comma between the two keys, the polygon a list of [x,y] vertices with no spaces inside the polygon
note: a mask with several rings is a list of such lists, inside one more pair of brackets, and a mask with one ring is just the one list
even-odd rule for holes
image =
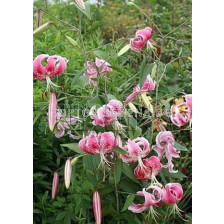
{"label": "pink and white lily bloom at far left, above a hanging bud", "polygon": [[[43,66],[43,61],[46,60],[47,64]],[[51,82],[52,77],[61,75],[67,67],[68,60],[59,55],[49,56],[48,54],[41,54],[33,61],[33,77],[38,80],[47,81],[47,89],[49,86],[55,86]]]}

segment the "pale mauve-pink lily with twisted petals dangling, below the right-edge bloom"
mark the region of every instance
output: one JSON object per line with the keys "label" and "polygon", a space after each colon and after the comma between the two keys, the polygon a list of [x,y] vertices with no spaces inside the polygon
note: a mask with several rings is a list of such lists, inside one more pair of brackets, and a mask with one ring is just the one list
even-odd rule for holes
{"label": "pale mauve-pink lily with twisted petals dangling, below the right-edge bloom", "polygon": [[180,157],[179,152],[177,152],[177,149],[174,147],[174,143],[174,136],[170,131],[161,131],[156,136],[156,147],[154,150],[157,152],[159,159],[161,159],[165,154],[168,160],[168,168],[170,173],[178,172],[173,170],[174,165],[172,162],[172,158]]}

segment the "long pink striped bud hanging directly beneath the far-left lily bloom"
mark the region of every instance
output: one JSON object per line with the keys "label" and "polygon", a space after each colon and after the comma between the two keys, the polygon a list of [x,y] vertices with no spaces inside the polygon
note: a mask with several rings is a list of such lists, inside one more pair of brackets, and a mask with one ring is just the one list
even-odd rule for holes
{"label": "long pink striped bud hanging directly beneath the far-left lily bloom", "polygon": [[50,101],[48,106],[48,124],[51,131],[54,130],[54,126],[56,124],[56,115],[57,115],[56,93],[52,92],[50,95]]}

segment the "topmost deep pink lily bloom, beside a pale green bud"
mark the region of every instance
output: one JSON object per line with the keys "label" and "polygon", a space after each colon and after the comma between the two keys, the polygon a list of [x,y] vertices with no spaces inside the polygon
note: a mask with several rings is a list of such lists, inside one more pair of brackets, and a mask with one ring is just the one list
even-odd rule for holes
{"label": "topmost deep pink lily bloom, beside a pale green bud", "polygon": [[147,41],[150,41],[152,37],[152,29],[146,27],[143,30],[138,30],[135,37],[130,40],[131,49],[137,53],[140,53],[146,46]]}

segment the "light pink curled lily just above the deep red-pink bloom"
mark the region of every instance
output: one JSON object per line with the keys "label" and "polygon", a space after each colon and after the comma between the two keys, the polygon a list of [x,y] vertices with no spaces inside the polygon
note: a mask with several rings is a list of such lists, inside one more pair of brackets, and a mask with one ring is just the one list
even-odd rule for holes
{"label": "light pink curled lily just above the deep red-pink bloom", "polygon": [[120,155],[120,158],[124,163],[134,163],[139,162],[142,164],[141,158],[146,157],[150,152],[150,144],[148,140],[144,137],[139,137],[136,139],[128,139],[127,145],[125,145],[122,149],[127,151],[128,154]]}

